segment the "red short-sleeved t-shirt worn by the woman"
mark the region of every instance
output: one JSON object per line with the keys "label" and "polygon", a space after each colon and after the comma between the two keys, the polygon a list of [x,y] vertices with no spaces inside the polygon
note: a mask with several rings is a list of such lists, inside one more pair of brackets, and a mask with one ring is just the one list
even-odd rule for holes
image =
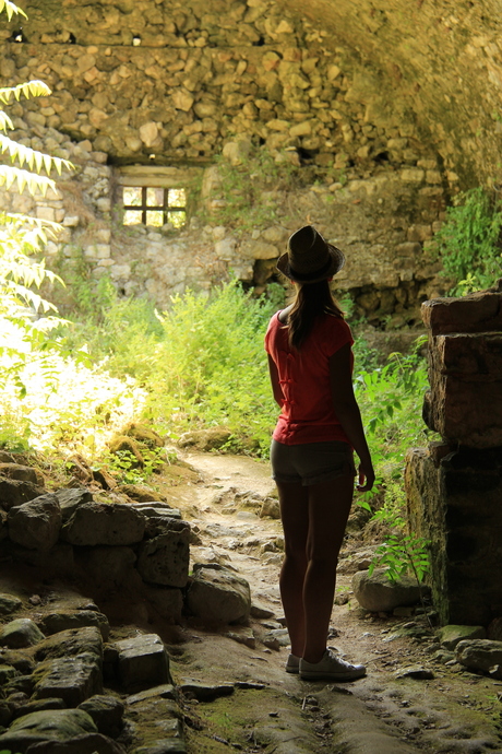
{"label": "red short-sleeved t-shirt worn by the woman", "polygon": [[288,344],[288,328],[278,311],[265,335],[265,350],[274,360],[284,394],[273,438],[284,445],[342,440],[349,443],[333,408],[330,386],[330,356],[346,343],[352,345],[350,328],[344,319],[323,315],[299,351]]}

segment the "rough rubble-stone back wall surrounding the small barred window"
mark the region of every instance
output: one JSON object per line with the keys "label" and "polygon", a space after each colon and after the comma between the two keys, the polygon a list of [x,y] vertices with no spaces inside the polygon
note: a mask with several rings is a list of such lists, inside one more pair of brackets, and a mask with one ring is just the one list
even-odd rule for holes
{"label": "rough rubble-stone back wall surrounding the small barred window", "polygon": [[[375,323],[415,323],[419,303],[441,294],[423,243],[459,185],[455,160],[416,114],[389,106],[378,70],[357,63],[340,36],[266,0],[31,0],[25,10],[22,30],[2,22],[0,72],[8,84],[43,79],[52,95],[11,105],[15,136],[77,168],[36,207],[27,196],[12,202],[63,223],[49,254],[83,254],[95,276],[164,307],[229,270],[263,290],[288,235],[312,222],[347,251],[338,285]],[[273,221],[243,234],[238,219],[218,215],[228,195],[213,163],[223,154],[246,172],[256,150],[292,175],[264,182]],[[115,212],[122,165],[165,170],[166,185],[187,188],[186,228],[124,229]]]}

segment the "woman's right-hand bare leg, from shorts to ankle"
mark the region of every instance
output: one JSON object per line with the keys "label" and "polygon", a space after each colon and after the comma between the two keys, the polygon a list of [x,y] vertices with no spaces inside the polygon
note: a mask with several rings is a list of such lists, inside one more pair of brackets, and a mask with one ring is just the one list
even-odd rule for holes
{"label": "woman's right-hand bare leg, from shorts to ankle", "polygon": [[303,581],[306,644],[301,657],[319,662],[326,649],[338,553],[352,503],[354,476],[344,474],[308,487],[308,567]]}

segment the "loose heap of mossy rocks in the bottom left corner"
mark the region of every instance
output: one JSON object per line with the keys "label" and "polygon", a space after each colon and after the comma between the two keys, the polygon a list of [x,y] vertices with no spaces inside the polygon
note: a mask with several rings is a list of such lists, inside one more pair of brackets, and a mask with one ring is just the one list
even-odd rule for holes
{"label": "loose heap of mossy rocks in the bottom left corner", "polygon": [[[3,611],[21,605],[0,596]],[[107,643],[96,605],[40,627],[14,618],[0,632],[0,747],[21,754],[186,751],[169,657],[159,636]],[[92,608],[89,610],[89,606]],[[91,625],[89,616],[94,617]],[[61,629],[71,618],[72,628]],[[152,712],[158,716],[148,724]],[[159,749],[159,746],[163,746]]]}

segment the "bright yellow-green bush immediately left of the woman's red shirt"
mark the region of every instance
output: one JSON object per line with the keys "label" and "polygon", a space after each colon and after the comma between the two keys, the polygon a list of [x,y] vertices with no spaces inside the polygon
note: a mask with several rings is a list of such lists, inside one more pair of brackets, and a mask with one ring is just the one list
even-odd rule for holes
{"label": "bright yellow-green bush immediately left of the woman's red shirt", "polygon": [[208,298],[175,296],[159,315],[151,405],[165,407],[181,427],[227,425],[243,447],[266,452],[275,410],[263,337],[272,313],[236,281]]}

